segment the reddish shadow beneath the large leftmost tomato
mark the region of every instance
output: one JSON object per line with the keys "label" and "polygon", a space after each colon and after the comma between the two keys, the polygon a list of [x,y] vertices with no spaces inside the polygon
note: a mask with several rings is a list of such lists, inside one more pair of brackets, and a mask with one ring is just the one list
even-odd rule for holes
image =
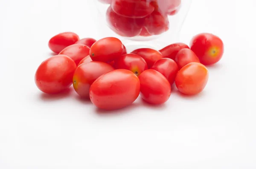
{"label": "reddish shadow beneath the large leftmost tomato", "polygon": [[47,93],[41,93],[40,99],[43,101],[55,101],[55,100],[60,100],[63,98],[66,98],[67,96],[70,96],[71,89],[68,88],[61,93],[57,94],[47,94]]}

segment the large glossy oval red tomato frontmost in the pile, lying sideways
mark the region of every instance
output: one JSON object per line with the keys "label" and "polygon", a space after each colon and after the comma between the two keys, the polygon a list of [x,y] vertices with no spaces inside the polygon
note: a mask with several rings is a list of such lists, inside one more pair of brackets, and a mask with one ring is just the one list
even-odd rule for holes
{"label": "large glossy oval red tomato frontmost in the pile, lying sideways", "polygon": [[117,69],[96,79],[90,87],[90,100],[104,110],[132,104],[140,94],[140,80],[129,70]]}

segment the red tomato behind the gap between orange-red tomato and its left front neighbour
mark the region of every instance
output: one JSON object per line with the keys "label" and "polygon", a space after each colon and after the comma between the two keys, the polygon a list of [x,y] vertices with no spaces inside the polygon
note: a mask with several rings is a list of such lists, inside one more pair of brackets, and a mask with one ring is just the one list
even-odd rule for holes
{"label": "red tomato behind the gap between orange-red tomato and its left front neighbour", "polygon": [[177,63],[170,58],[163,58],[154,63],[151,69],[157,70],[169,81],[170,85],[173,84],[176,74],[179,71]]}

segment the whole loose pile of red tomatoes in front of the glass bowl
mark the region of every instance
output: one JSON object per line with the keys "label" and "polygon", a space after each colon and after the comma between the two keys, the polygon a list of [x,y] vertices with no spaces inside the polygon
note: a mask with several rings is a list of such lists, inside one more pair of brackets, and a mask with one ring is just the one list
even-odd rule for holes
{"label": "whole loose pile of red tomatoes in front of the glass bowl", "polygon": [[200,93],[207,85],[205,65],[218,62],[224,52],[221,39],[198,34],[190,48],[175,43],[156,51],[139,48],[127,53],[114,37],[79,40],[65,32],[52,37],[49,48],[58,53],[46,59],[35,73],[35,83],[44,93],[61,93],[73,83],[76,93],[105,110],[132,104],[137,97],[150,104],[163,104],[171,86],[185,95]]}

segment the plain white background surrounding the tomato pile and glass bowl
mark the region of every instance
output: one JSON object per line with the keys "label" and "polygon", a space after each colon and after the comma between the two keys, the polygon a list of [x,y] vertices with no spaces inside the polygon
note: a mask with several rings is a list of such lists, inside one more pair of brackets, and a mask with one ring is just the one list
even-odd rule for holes
{"label": "plain white background surrounding the tomato pile and glass bowl", "polygon": [[111,34],[93,0],[0,0],[0,169],[256,169],[255,8],[194,0],[180,42],[209,32],[225,45],[204,92],[109,114],[34,82],[53,35]]}

